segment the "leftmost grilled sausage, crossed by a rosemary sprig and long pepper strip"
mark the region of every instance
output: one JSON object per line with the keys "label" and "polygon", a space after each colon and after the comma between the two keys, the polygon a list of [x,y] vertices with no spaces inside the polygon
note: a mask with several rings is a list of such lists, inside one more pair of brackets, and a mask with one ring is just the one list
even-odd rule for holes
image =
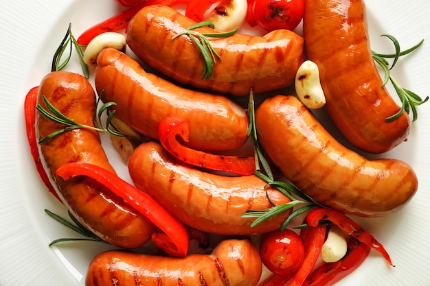
{"label": "leftmost grilled sausage, crossed by a rosemary sprig and long pepper strip", "polygon": [[[95,95],[88,80],[77,73],[54,71],[41,81],[38,104],[46,109],[45,96],[66,117],[93,126]],[[36,112],[36,138],[42,138],[65,126]],[[76,178],[64,181],[56,170],[65,163],[85,162],[115,172],[100,144],[98,132],[75,129],[63,132],[39,145],[41,161],[56,193],[78,221],[104,241],[122,248],[135,248],[149,240],[155,226],[112,198],[109,191],[94,181]],[[107,193],[107,195],[106,195]]]}

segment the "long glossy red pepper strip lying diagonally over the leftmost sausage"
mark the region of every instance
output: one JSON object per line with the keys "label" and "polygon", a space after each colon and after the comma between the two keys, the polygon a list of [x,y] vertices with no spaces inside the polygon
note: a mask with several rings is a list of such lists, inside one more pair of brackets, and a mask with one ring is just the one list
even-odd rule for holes
{"label": "long glossy red pepper strip lying diagonally over the leftmost sausage", "polygon": [[67,163],[59,167],[56,174],[65,180],[75,176],[87,176],[100,182],[163,231],[166,237],[156,234],[154,239],[159,242],[159,246],[164,247],[165,252],[174,257],[185,257],[187,254],[188,232],[185,226],[148,194],[139,191],[111,171],[89,163]]}

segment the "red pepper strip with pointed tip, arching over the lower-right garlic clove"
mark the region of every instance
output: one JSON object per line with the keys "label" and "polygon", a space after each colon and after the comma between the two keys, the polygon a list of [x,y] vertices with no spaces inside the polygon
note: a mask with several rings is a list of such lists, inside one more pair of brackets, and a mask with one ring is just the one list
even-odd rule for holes
{"label": "red pepper strip with pointed tip, arching over the lower-right garlic clove", "polygon": [[374,250],[380,252],[389,265],[394,267],[392,260],[383,245],[379,243],[373,235],[367,233],[367,231],[361,228],[357,222],[354,222],[352,219],[350,219],[350,217],[347,217],[343,213],[335,211],[331,208],[315,208],[306,216],[306,222],[310,226],[317,226],[321,220],[330,221],[333,224],[336,224],[345,233],[352,235],[353,237],[359,239],[359,241],[366,243]]}

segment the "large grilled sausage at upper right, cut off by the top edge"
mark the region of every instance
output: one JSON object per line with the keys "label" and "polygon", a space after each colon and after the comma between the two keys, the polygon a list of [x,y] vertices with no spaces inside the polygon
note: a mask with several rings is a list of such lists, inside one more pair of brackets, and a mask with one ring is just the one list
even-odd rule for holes
{"label": "large grilled sausage at upper right, cut off by the top edge", "polygon": [[409,116],[387,93],[370,49],[363,0],[308,0],[306,54],[318,67],[328,114],[361,150],[382,153],[407,139]]}

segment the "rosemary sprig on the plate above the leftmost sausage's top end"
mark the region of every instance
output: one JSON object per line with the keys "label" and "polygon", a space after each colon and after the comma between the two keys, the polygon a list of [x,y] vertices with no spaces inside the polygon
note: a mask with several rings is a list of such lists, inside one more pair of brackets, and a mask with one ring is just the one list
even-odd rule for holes
{"label": "rosemary sprig on the plate above the leftmost sausage's top end", "polygon": [[[65,60],[63,62],[61,59],[64,56],[65,50],[67,49],[67,46],[70,47],[69,53],[67,54]],[[51,71],[60,71],[64,69],[64,67],[69,63],[71,58],[71,52],[73,50],[73,47],[76,49],[76,53],[78,53],[78,58],[80,62],[80,66],[82,68],[82,73],[84,73],[85,78],[89,78],[89,71],[88,66],[84,62],[84,52],[82,49],[80,49],[80,45],[78,44],[78,41],[71,33],[71,23],[69,23],[69,27],[67,28],[67,32],[61,41],[60,45],[58,46],[56,52],[54,53],[54,58],[52,58],[52,67]]]}

